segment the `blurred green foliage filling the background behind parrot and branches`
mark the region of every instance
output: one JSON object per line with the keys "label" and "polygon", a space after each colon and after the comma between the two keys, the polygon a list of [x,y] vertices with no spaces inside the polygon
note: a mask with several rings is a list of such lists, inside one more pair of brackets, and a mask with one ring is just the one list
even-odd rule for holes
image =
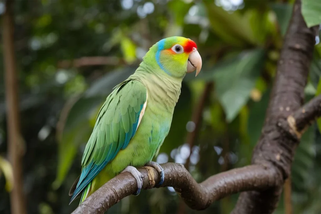
{"label": "blurred green foliage filling the background behind parrot and branches", "polygon": [[[188,169],[197,181],[249,164],[292,4],[286,0],[17,1],[15,49],[28,212],[70,213],[75,209],[77,202],[68,205],[68,191],[80,173],[82,152],[100,106],[112,88],[135,71],[148,48],[168,36],[196,41],[203,70],[197,78],[186,76],[172,128],[155,159],[184,164],[190,158]],[[302,0],[308,26],[321,23],[320,11],[318,1]],[[0,0],[0,19],[3,12],[4,1]],[[0,55],[2,45],[0,42]],[[306,100],[321,93],[320,55],[318,44]],[[12,169],[6,161],[2,58],[0,212],[10,213]],[[190,150],[188,133],[195,129],[191,118],[209,82],[214,87],[205,100],[200,132]],[[321,127],[321,121],[318,124]],[[298,213],[321,211],[320,141],[317,125],[312,126],[296,152],[292,202]],[[227,197],[198,213],[229,213],[236,199],[237,195]],[[129,196],[109,212],[175,213],[182,209],[196,213],[182,206],[172,188],[160,188]],[[276,213],[283,212],[281,200]]]}

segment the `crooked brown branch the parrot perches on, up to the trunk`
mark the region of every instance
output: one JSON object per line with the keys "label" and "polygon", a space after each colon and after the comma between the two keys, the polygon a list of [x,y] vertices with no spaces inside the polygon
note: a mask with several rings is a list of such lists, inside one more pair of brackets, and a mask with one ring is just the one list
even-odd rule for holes
{"label": "crooked brown branch the parrot perches on, up to the trunk", "polygon": [[[172,186],[192,209],[204,210],[214,201],[248,190],[265,190],[276,185],[278,171],[273,167],[251,165],[213,175],[197,184],[192,175],[181,164],[161,164],[165,172],[162,187]],[[138,169],[143,175],[143,189],[151,189],[160,181],[160,176],[154,168]],[[122,173],[108,181],[96,192],[92,193],[73,214],[104,213],[121,199],[137,191],[137,183],[129,173]]]}

